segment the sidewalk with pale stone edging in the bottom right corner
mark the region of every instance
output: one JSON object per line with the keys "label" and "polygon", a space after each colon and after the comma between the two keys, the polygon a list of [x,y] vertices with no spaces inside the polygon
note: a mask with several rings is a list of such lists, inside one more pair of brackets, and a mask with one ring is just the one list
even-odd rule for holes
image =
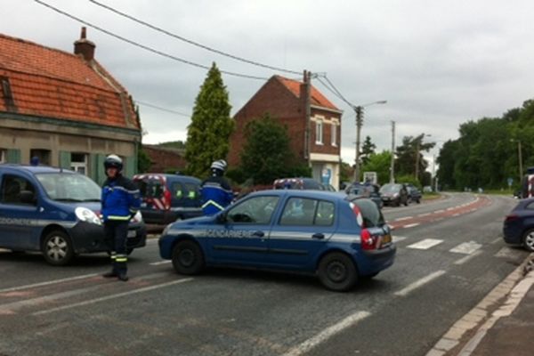
{"label": "sidewalk with pale stone edging in the bottom right corner", "polygon": [[534,355],[534,271],[527,261],[449,329],[426,356]]}

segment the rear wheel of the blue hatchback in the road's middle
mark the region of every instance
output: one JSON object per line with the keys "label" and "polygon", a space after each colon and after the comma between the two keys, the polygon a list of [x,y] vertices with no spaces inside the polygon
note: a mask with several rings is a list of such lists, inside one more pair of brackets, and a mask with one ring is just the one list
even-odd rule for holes
{"label": "rear wheel of the blue hatchback in the road's middle", "polygon": [[351,257],[340,252],[325,255],[317,274],[322,285],[335,292],[346,292],[358,281],[358,271]]}

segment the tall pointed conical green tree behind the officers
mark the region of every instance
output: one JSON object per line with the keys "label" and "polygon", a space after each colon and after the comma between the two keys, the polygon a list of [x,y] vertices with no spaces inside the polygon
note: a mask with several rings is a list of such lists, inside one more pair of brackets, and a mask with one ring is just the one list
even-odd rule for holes
{"label": "tall pointed conical green tree behind the officers", "polygon": [[215,63],[200,87],[185,143],[187,173],[204,177],[216,159],[225,159],[234,122],[221,72]]}

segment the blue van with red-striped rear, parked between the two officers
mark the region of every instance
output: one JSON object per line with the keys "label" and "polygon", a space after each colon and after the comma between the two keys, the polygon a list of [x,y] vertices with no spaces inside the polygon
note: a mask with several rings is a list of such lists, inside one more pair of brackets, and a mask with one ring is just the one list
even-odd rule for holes
{"label": "blue van with red-striped rear, parked between the two officers", "polygon": [[167,224],[202,215],[200,182],[180,174],[136,174],[146,223]]}

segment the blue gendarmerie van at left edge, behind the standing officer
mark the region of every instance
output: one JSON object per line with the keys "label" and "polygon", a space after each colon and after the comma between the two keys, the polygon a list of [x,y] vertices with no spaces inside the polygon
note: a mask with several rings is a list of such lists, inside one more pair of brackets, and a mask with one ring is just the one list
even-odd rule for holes
{"label": "blue gendarmerie van at left edge, behind the standing officer", "polygon": [[[0,164],[0,247],[41,251],[53,265],[104,252],[101,188],[83,174],[49,166]],[[146,244],[142,215],[128,230],[128,251]]]}

